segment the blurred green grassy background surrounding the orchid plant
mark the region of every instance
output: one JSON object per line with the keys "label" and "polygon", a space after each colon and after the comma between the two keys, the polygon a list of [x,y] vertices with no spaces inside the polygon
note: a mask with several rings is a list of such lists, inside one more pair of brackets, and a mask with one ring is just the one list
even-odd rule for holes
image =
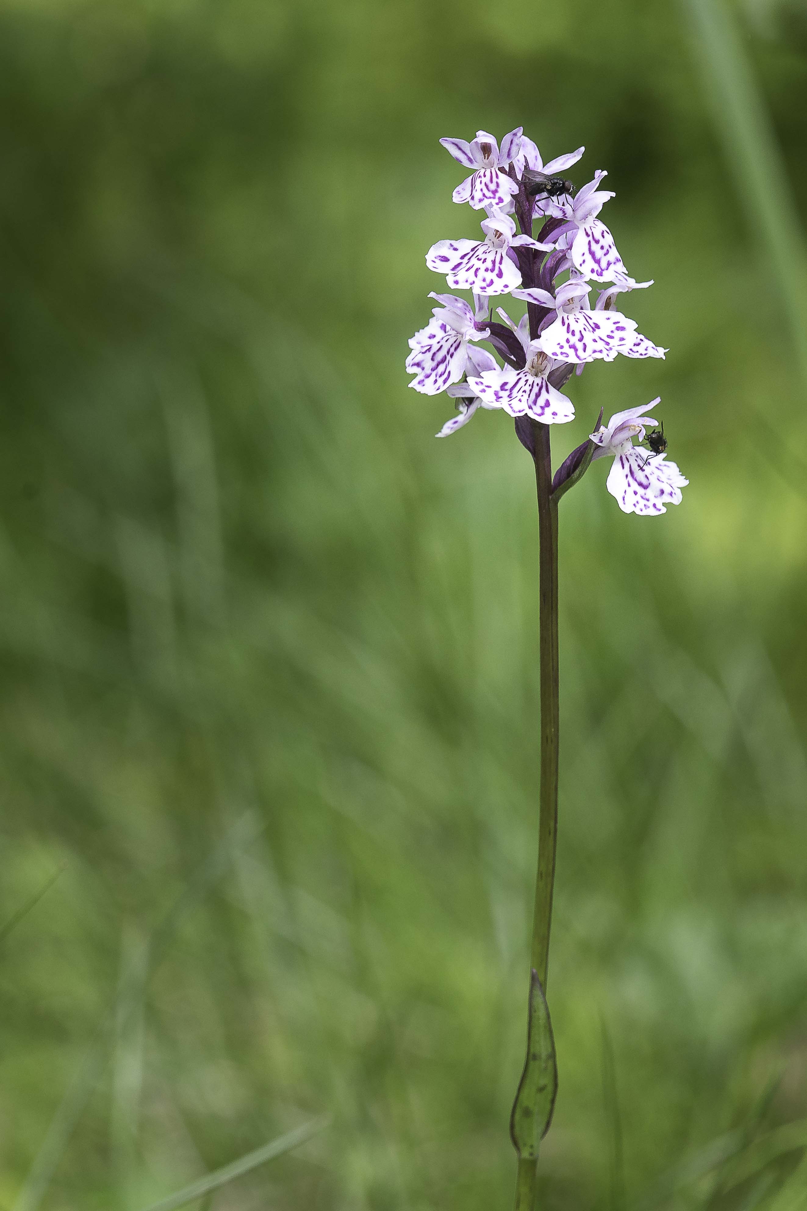
{"label": "blurred green grassy background surrounding the orchid plant", "polygon": [[[807,10],[734,17],[803,214]],[[626,517],[598,464],[561,506],[543,1204],[807,1205],[801,321],[701,36],[646,0],[0,5],[5,1211],[140,1211],[323,1113],[195,1206],[512,1205],[534,481],[503,415],[436,442],[403,361],[426,248],[478,230],[438,138],[519,124],[609,170],[670,348],[575,380],[555,457],[661,394],[691,480]]]}

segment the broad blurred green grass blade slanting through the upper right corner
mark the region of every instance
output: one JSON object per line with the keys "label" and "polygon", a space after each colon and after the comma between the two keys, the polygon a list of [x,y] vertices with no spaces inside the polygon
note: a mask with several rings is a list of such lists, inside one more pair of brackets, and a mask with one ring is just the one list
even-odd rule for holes
{"label": "broad blurred green grass blade slanting through the upper right corner", "polygon": [[753,65],[724,0],[682,0],[715,126],[738,193],[777,277],[807,384],[807,249],[792,190]]}

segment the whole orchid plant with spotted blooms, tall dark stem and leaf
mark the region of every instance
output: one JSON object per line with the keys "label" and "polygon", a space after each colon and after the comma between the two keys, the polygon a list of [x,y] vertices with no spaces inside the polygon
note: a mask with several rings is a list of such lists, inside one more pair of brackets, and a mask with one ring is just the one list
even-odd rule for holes
{"label": "whole orchid plant with spotted blooms, tall dark stem and leaf", "polygon": [[[573,449],[553,476],[551,425],[569,424],[575,408],[563,389],[593,361],[664,357],[667,350],[636,331],[616,308],[619,294],[651,281],[629,276],[613,236],[599,218],[612,190],[600,189],[605,172],[575,191],[559,176],[583,148],[544,163],[536,144],[518,127],[501,145],[478,131],[475,139],[440,139],[466,168],[455,202],[484,210],[483,240],[439,240],[426,264],[451,289],[473,292],[473,306],[454,294],[432,294],[440,306],[409,342],[409,384],[423,395],[445,391],[456,404],[438,437],[462,429],[479,411],[501,411],[535,463],[540,536],[541,785],[538,867],[530,955],[528,1054],[511,1117],[518,1153],[517,1211],[534,1211],[541,1140],[549,1129],[557,1064],[546,999],[549,929],[558,823],[558,505],[592,463],[612,457],[606,488],[626,513],[655,516],[681,501],[688,482],[668,461],[667,438],[649,415],[658,398],[627,408]],[[534,223],[540,223],[535,237]],[[518,225],[517,225],[518,224]],[[590,303],[593,286],[599,291]],[[513,321],[491,297],[511,294],[526,303]],[[486,342],[492,351],[483,348]],[[501,358],[503,365],[496,360]]]}

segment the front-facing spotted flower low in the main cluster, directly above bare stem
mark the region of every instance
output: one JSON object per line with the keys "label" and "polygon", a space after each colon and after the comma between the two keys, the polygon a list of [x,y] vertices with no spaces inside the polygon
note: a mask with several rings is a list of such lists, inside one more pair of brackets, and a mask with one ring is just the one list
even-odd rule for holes
{"label": "front-facing spotted flower low in the main cluster, directly above bare stem", "polygon": [[478,378],[469,378],[468,385],[484,406],[503,408],[511,417],[528,415],[544,425],[564,425],[573,420],[575,408],[571,401],[549,383],[549,374],[555,367],[554,360],[542,350],[540,340],[530,340],[528,317],[524,316],[515,326],[501,308],[498,314],[521,342],[525,366],[521,369],[512,366],[496,367]]}

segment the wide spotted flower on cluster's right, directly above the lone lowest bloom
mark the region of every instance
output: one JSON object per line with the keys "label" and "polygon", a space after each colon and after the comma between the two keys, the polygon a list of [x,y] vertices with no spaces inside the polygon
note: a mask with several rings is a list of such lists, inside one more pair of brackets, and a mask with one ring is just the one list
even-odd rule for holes
{"label": "wide spotted flower on cluster's right, directly above the lone lowest bloom", "polygon": [[[617,354],[626,357],[663,357],[667,352],[636,332],[636,321],[621,311],[590,310],[590,286],[580,279],[564,282],[555,294],[549,291],[514,289],[513,295],[555,312],[555,318],[541,331],[541,348],[551,357],[582,365],[603,358],[612,362]],[[548,318],[548,317],[547,317]]]}

